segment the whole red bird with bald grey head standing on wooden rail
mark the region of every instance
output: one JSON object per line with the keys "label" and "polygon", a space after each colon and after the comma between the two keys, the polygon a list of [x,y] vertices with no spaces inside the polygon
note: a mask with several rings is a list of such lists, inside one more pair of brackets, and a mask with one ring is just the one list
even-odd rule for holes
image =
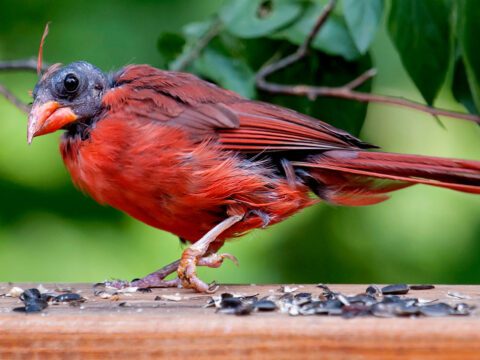
{"label": "whole red bird with bald grey head standing on wooden rail", "polygon": [[225,240],[321,200],[371,205],[413,184],[480,194],[480,161],[370,151],[320,120],[191,74],[54,65],[33,97],[28,141],[64,129],[60,151],[80,189],[192,243],[133,286],[210,291],[196,266],[235,260],[217,253]]}

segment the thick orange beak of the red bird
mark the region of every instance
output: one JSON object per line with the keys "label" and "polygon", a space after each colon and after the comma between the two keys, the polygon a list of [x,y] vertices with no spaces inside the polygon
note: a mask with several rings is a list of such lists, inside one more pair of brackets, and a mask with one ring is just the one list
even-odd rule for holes
{"label": "thick orange beak of the red bird", "polygon": [[74,122],[77,115],[69,107],[62,107],[56,101],[34,104],[28,116],[27,140],[30,144],[35,136],[45,135],[62,129]]}

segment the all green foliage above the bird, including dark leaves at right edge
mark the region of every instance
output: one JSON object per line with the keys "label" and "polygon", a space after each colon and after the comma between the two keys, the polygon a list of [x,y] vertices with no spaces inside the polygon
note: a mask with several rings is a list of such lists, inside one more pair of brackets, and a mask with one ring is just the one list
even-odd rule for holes
{"label": "all green foliage above the bird, including dark leaves at right edge", "polygon": [[[229,0],[217,17],[187,24],[176,34],[161,34],[158,47],[163,65],[178,70],[188,63],[185,70],[245,97],[288,106],[358,134],[366,104],[265,94],[255,86],[255,74],[262,66],[293,53],[305,42],[326,4],[326,0]],[[342,0],[340,4],[313,39],[309,58],[269,80],[342,86],[368,70],[384,0]],[[453,94],[468,111],[477,112],[480,51],[474,34],[480,33],[476,28],[480,23],[475,21],[480,6],[475,0],[391,0],[387,4],[390,37],[426,102],[433,104],[455,62]],[[367,82],[357,90],[370,88]],[[335,111],[339,107],[342,112]]]}

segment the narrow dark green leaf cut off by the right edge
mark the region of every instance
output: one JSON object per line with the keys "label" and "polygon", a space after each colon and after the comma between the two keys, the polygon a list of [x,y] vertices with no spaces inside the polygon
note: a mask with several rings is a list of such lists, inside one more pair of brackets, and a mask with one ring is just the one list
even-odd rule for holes
{"label": "narrow dark green leaf cut off by the right edge", "polygon": [[476,109],[480,109],[480,3],[464,0],[460,16],[460,45]]}

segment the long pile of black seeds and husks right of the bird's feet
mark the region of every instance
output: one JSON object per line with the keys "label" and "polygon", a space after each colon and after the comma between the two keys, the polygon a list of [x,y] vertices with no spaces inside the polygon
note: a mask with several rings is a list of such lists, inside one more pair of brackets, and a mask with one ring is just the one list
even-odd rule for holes
{"label": "long pile of black seeds and husks right of the bird's feet", "polygon": [[[257,295],[235,295],[223,293],[212,297],[206,307],[215,306],[223,314],[249,315],[254,311],[275,311],[290,316],[342,316],[350,319],[359,316],[375,317],[419,317],[470,315],[473,307],[457,304],[452,307],[436,300],[403,297],[409,287],[404,284],[385,286],[382,290],[369,286],[365,293],[344,295],[332,291],[326,285],[319,285],[322,294],[282,291],[281,295],[268,295],[257,300]],[[383,295],[382,295],[383,294]]]}

